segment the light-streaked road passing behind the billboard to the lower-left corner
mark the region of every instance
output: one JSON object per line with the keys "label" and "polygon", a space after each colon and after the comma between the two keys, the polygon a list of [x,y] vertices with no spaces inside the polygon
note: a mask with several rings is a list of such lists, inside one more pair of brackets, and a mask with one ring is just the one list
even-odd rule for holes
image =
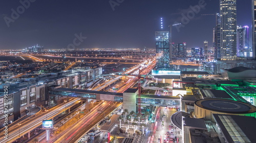
{"label": "light-streaked road passing behind the billboard to the lower-left corner", "polygon": [[24,134],[28,133],[29,131],[40,126],[42,124],[42,120],[53,119],[59,113],[65,111],[66,109],[79,103],[80,102],[79,100],[80,99],[78,99],[78,98],[73,99],[66,104],[56,106],[56,107],[52,108],[51,110],[42,113],[42,115],[38,115],[37,117],[34,117],[30,120],[20,122],[19,123],[20,125],[17,124],[16,126],[12,126],[12,127],[8,128],[8,139],[4,138],[4,135],[2,134],[0,136],[0,142],[8,143],[8,142],[14,141],[15,139],[19,138],[20,136],[23,136]]}

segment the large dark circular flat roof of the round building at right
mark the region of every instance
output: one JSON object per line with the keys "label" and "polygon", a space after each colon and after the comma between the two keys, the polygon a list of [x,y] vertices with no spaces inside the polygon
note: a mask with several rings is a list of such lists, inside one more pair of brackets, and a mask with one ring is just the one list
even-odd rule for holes
{"label": "large dark circular flat roof of the round building at right", "polygon": [[200,99],[195,104],[204,109],[224,112],[224,113],[253,113],[256,112],[256,107],[240,101],[228,99]]}

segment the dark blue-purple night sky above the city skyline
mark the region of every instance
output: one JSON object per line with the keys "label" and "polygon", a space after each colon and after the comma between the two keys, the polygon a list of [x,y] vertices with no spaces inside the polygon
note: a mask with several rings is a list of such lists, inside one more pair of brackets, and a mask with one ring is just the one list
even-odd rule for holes
{"label": "dark blue-purple night sky above the city skyline", "polygon": [[[154,48],[160,17],[164,30],[169,30],[167,25],[180,23],[181,14],[186,15],[191,11],[189,6],[198,5],[199,0],[112,0],[113,5],[122,2],[114,11],[109,0],[37,0],[24,12],[19,1],[1,2],[0,49],[23,49],[34,44],[45,49],[67,48],[80,33],[87,38],[78,41],[76,48]],[[251,28],[250,2],[237,0],[237,24]],[[173,42],[202,47],[207,40],[212,46],[215,16],[201,14],[219,13],[219,1],[205,0],[205,4],[179,32],[173,27]],[[8,27],[4,17],[12,18],[11,9],[17,12],[17,8],[21,14]]]}

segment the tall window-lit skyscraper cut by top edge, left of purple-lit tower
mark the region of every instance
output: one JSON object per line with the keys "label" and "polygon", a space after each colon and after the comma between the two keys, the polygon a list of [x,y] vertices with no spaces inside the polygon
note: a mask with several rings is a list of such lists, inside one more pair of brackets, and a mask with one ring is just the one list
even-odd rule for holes
{"label": "tall window-lit skyscraper cut by top edge, left of purple-lit tower", "polygon": [[237,59],[237,1],[220,0],[221,60]]}

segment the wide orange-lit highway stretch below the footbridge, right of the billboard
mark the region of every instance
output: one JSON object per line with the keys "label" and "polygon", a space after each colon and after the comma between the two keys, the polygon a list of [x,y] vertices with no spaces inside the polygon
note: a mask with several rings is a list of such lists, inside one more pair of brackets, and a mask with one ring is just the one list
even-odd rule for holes
{"label": "wide orange-lit highway stretch below the footbridge, right of the billboard", "polygon": [[[98,107],[94,108],[87,116],[84,116],[78,124],[75,124],[71,128],[67,129],[68,132],[62,134],[54,142],[61,143],[73,143],[78,142],[78,140],[90,131],[98,122],[100,122],[105,116],[109,115],[111,111],[120,106],[120,102],[104,101]],[[102,112],[97,112],[98,109]]]}

